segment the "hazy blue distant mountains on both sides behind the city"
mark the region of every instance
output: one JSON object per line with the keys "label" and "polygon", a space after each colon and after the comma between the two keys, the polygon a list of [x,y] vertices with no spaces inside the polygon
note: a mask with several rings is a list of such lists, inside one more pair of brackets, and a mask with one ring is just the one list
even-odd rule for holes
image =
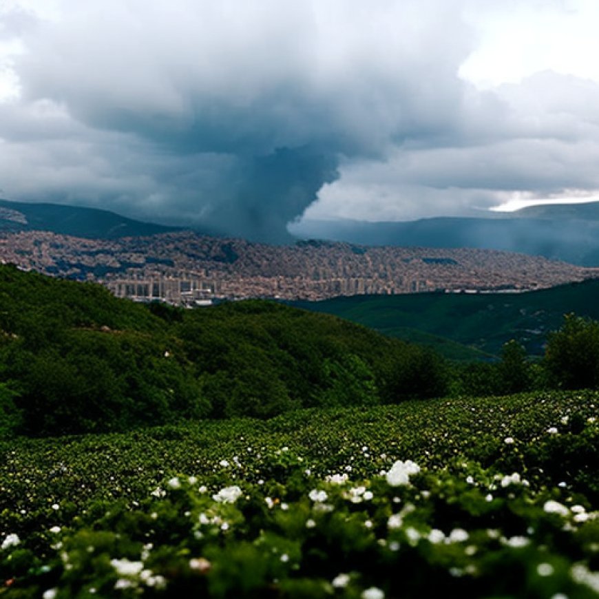
{"label": "hazy blue distant mountains on both sides behind the city", "polygon": [[[95,208],[0,200],[0,232],[50,231],[79,238],[118,239],[181,230]],[[494,249],[599,266],[599,202],[407,222],[306,220],[293,225],[291,231],[302,239],[368,246]],[[196,232],[213,234],[209,229]]]}

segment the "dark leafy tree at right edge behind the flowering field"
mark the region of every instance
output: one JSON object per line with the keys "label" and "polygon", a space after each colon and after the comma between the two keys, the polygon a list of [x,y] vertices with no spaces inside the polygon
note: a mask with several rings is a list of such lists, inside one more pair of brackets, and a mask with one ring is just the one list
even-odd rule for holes
{"label": "dark leafy tree at right edge behind the flowering field", "polygon": [[551,383],[565,389],[599,386],[599,322],[569,314],[545,351]]}

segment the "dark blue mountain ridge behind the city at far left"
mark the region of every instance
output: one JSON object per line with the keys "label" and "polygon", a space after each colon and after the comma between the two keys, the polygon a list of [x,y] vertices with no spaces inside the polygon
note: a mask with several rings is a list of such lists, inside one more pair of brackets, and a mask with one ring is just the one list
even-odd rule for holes
{"label": "dark blue mountain ridge behind the city at far left", "polygon": [[50,231],[86,239],[118,239],[180,230],[98,208],[0,200],[0,231]]}

